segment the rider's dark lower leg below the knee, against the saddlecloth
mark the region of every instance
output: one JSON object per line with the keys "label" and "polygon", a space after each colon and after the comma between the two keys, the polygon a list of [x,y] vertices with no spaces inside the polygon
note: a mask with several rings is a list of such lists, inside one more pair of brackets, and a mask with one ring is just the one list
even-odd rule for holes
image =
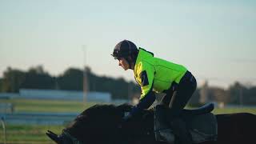
{"label": "rider's dark lower leg below the knee, against the saddlecloth", "polygon": [[174,118],[170,122],[170,128],[173,130],[174,135],[178,138],[180,144],[192,144],[192,136],[186,129],[186,122],[182,118]]}

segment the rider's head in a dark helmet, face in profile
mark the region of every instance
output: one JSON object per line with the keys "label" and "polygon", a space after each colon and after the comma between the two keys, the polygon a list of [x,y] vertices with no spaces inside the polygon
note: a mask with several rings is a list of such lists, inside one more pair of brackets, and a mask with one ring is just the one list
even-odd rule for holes
{"label": "rider's head in a dark helmet, face in profile", "polygon": [[[123,40],[122,42],[118,42],[116,46],[114,46],[113,54],[111,54],[114,59],[119,60],[119,66],[124,66],[123,68],[126,70],[126,63],[128,64],[129,69],[133,69],[133,66],[136,62],[136,58],[138,56],[138,48],[137,46],[128,40]],[[126,62],[123,62],[126,61]],[[121,64],[120,64],[121,62]],[[124,63],[124,65],[122,64]]]}

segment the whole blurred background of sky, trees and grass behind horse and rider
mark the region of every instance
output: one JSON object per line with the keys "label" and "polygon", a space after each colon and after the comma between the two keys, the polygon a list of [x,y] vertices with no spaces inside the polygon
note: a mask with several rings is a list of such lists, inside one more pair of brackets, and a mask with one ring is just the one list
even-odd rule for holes
{"label": "whole blurred background of sky, trees and grass behind horse and rider", "polygon": [[132,70],[110,56],[128,39],[198,80],[188,108],[256,114],[253,0],[0,0],[0,143],[53,143],[94,104],[136,102]]}

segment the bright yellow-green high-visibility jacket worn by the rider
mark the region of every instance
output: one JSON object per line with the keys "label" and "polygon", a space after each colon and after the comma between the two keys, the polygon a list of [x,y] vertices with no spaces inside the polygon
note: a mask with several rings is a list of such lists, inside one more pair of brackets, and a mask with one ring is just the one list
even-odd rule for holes
{"label": "bright yellow-green high-visibility jacket worn by the rider", "polygon": [[134,78],[142,89],[140,99],[144,98],[151,88],[157,93],[168,90],[172,82],[180,82],[186,70],[184,66],[154,58],[154,54],[139,48]]}

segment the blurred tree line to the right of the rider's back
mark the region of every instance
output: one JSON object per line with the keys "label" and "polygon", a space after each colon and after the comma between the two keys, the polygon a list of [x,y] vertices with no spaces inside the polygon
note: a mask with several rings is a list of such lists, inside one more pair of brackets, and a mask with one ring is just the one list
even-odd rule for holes
{"label": "blurred tree line to the right of the rider's back", "polygon": [[[202,96],[205,96],[204,99]],[[203,101],[205,100],[205,101]],[[223,102],[234,105],[256,105],[256,86],[246,86],[241,82],[234,82],[227,89],[218,86],[201,86],[193,97],[190,104],[201,105],[206,102]]]}

